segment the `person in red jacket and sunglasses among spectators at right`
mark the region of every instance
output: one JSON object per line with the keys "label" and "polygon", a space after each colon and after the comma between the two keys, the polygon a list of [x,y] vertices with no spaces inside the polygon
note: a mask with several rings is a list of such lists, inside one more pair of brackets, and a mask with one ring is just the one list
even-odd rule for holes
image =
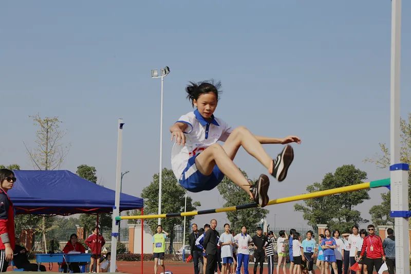
{"label": "person in red jacket and sunglasses among spectators at right", "polygon": [[[385,262],[384,248],[380,236],[375,234],[375,227],[368,225],[368,236],[364,238],[363,247],[361,248],[360,261],[367,252],[365,264],[367,265],[368,273],[372,273],[374,267],[377,272],[380,270],[383,261]],[[382,260],[381,260],[382,259]]]}

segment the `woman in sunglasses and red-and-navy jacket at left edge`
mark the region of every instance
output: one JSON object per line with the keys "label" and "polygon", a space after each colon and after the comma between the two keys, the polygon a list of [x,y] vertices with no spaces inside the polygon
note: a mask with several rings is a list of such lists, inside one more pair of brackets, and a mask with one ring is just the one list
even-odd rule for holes
{"label": "woman in sunglasses and red-and-navy jacket at left edge", "polygon": [[9,169],[0,169],[0,272],[5,272],[13,260],[14,250],[14,209],[7,191],[16,181]]}

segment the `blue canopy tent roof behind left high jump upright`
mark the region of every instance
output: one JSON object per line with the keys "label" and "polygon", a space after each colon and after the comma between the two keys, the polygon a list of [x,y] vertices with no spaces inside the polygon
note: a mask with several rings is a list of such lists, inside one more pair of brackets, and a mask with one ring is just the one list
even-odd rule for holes
{"label": "blue canopy tent roof behind left high jump upright", "polygon": [[[16,214],[70,215],[113,211],[115,191],[67,171],[14,170],[8,192]],[[143,199],[121,193],[120,211],[141,209]]]}

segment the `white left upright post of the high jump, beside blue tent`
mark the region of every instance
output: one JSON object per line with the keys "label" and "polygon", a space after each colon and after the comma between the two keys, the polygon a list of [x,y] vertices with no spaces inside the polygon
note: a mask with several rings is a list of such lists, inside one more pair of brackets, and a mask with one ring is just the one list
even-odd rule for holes
{"label": "white left upright post of the high jump, beside blue tent", "polygon": [[[120,216],[120,188],[121,188],[121,154],[123,150],[123,119],[119,119],[117,129],[117,169],[116,169],[116,194],[113,207],[113,222],[111,225],[111,263],[110,272],[116,272],[117,257],[117,237],[119,235],[119,226],[116,223],[116,216]],[[120,222],[120,221],[119,221]]]}

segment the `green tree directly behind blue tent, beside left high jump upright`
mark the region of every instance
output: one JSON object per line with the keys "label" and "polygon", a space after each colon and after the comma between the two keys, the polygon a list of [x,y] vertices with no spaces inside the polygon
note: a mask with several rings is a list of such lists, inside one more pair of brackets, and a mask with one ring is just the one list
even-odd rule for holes
{"label": "green tree directly behind blue tent, beside left high jump upright", "polygon": [[[87,165],[80,165],[77,167],[77,175],[80,177],[94,182],[97,184],[97,176],[96,176],[96,168]],[[99,214],[99,224],[100,227],[103,228],[110,228],[111,222],[113,222],[110,213],[101,213]],[[96,214],[81,214],[79,217],[79,224],[80,226],[84,227],[84,231],[86,233],[91,232],[92,229],[97,224],[97,215]]]}

